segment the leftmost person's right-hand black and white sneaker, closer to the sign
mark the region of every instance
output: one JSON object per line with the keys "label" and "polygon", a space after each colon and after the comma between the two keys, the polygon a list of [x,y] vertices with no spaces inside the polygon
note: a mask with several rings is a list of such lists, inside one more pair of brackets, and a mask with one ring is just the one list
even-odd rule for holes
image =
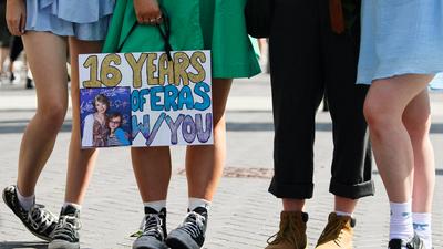
{"label": "leftmost person's right-hand black and white sneaker, closer to the sign", "polygon": [[62,208],[59,224],[48,249],[80,249],[79,230],[81,227],[80,210],[71,205]]}

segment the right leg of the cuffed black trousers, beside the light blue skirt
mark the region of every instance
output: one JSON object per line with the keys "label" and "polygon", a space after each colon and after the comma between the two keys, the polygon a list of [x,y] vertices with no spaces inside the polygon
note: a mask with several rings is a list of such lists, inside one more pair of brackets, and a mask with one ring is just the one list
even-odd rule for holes
{"label": "right leg of the cuffed black trousers, beside the light blue skirt", "polygon": [[330,29],[329,4],[320,4],[326,92],[333,126],[333,159],[329,190],[358,199],[373,195],[372,155],[363,103],[368,86],[356,85],[360,44],[360,23],[343,34]]}

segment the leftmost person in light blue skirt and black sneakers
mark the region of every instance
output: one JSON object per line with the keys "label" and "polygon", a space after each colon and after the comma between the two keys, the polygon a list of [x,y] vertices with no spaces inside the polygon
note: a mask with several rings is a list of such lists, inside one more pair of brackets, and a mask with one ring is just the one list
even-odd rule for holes
{"label": "leftmost person in light blue skirt and black sneakers", "polygon": [[[76,58],[80,53],[101,51],[113,8],[112,0],[7,1],[8,28],[13,35],[22,37],[35,82],[38,108],[20,145],[17,185],[6,187],[2,197],[33,235],[51,241],[50,249],[80,248],[79,237],[65,234],[79,227],[82,190],[87,186],[95,152],[80,149]],[[68,108],[68,45],[73,65],[73,131],[65,204],[58,221],[44,206],[35,204],[34,193]]]}

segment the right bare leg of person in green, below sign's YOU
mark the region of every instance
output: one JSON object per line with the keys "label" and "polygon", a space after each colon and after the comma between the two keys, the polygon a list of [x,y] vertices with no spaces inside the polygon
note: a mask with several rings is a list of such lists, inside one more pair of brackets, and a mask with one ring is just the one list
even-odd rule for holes
{"label": "right bare leg of person in green, below sign's YOU", "polygon": [[213,200],[226,159],[225,108],[233,80],[213,80],[214,145],[194,145],[186,149],[188,195]]}

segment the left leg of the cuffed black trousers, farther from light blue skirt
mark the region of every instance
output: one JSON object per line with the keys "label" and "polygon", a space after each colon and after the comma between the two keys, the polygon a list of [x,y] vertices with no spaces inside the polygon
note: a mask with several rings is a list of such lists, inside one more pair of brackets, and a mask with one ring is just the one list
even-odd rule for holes
{"label": "left leg of the cuffed black trousers, farther from light blue skirt", "polygon": [[276,0],[270,34],[278,198],[306,199],[313,191],[315,115],[323,95],[316,1]]}

